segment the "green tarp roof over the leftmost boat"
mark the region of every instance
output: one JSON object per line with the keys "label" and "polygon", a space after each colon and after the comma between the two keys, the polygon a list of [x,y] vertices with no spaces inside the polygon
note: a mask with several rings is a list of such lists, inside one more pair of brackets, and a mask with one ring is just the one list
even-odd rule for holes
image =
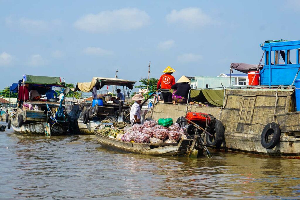
{"label": "green tarp roof over the leftmost boat", "polygon": [[64,86],[65,83],[61,82],[60,77],[44,77],[44,76],[32,76],[25,75],[26,80],[24,81],[27,84],[39,84],[39,85],[55,85],[55,86]]}

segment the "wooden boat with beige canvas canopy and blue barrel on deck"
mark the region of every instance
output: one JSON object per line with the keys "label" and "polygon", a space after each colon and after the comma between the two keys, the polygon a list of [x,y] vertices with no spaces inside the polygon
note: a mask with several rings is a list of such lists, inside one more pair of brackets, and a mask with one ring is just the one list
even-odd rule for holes
{"label": "wooden boat with beige canvas canopy and blue barrel on deck", "polygon": [[[94,101],[102,101],[100,94],[103,86],[123,86],[123,93],[126,91],[130,94],[134,87],[135,81],[122,80],[117,78],[93,77],[91,82],[76,83],[76,91],[91,92],[95,88],[98,90],[98,99]],[[108,95],[108,94],[107,94]],[[92,100],[93,101],[93,100]],[[95,105],[94,105],[95,104]],[[121,112],[119,112],[121,110]],[[72,105],[70,112],[70,123],[73,132],[81,134],[94,135],[94,129],[107,117],[114,121],[130,121],[130,106],[128,102],[119,101],[117,103],[98,103],[83,102],[80,105]]]}

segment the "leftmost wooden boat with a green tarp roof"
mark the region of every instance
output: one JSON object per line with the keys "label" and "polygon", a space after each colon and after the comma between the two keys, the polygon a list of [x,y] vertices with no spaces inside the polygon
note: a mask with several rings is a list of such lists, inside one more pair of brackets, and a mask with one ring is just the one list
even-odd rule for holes
{"label": "leftmost wooden boat with a green tarp roof", "polygon": [[[25,75],[22,84],[26,84],[28,88],[36,86],[39,94],[46,93],[47,86],[56,86],[65,88],[65,83],[61,82],[60,77],[39,77]],[[16,88],[18,91],[18,88]],[[26,100],[20,102],[20,106],[16,109],[11,108],[7,128],[10,126],[13,130],[21,135],[66,135],[69,128],[69,122],[64,114],[64,104],[62,103],[64,96],[61,97],[61,102],[51,100],[52,102],[40,100]],[[19,99],[18,99],[19,100]]]}

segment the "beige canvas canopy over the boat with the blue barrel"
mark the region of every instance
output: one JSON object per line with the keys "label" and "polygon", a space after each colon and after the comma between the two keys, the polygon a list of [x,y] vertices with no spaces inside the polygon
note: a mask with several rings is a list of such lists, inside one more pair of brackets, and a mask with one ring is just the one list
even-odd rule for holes
{"label": "beige canvas canopy over the boat with the blue barrel", "polygon": [[91,82],[77,83],[75,90],[91,92],[94,87],[96,87],[96,89],[99,90],[103,88],[103,86],[126,86],[129,89],[133,89],[134,83],[136,83],[136,81],[123,80],[117,78],[93,77]]}

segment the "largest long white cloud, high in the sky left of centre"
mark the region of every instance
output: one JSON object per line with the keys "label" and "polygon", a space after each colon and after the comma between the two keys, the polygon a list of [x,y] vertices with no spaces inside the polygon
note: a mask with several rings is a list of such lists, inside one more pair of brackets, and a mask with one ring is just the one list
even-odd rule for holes
{"label": "largest long white cloud, high in the sky left of centre", "polygon": [[149,15],[137,8],[106,10],[98,14],[88,14],[78,19],[74,26],[92,33],[134,30],[149,23]]}

